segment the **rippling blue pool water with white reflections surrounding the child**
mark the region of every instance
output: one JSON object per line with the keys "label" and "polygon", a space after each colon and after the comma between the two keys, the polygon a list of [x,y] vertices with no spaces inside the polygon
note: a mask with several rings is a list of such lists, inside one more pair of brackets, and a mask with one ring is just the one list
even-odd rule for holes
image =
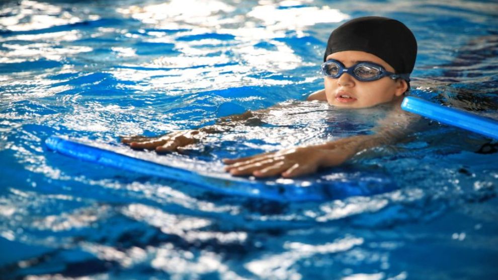
{"label": "rippling blue pool water with white reflections surrounding the child", "polygon": [[[369,133],[382,108],[300,113],[316,106],[302,101],[322,88],[329,32],[372,14],[417,37],[412,95],[498,119],[497,11],[463,0],[2,2],[0,278],[498,278],[498,153],[476,152],[496,142],[457,128],[423,122],[344,167],[381,172],[396,190],[310,203],[219,195],[43,145],[113,143],[281,103],[263,125],[193,153]],[[335,130],[341,120],[351,126]]]}

